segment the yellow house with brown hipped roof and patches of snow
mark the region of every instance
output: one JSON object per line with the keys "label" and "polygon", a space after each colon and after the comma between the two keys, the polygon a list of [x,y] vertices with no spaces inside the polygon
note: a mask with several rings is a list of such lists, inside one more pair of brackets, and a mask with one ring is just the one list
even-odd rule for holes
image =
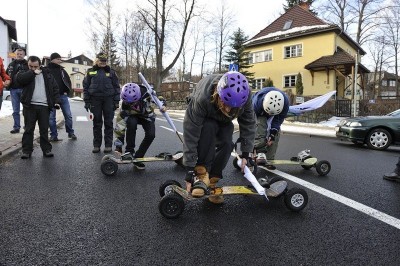
{"label": "yellow house with brown hipped roof and patches of snow", "polygon": [[356,66],[356,54],[365,51],[340,27],[316,17],[307,5],[290,8],[249,39],[245,52],[253,65],[249,71],[254,72],[256,89],[270,78],[275,87],[295,94],[300,73],[304,96],[336,90],[338,98],[353,99],[355,69],[358,93],[364,88],[363,74],[369,72],[360,63]]}

